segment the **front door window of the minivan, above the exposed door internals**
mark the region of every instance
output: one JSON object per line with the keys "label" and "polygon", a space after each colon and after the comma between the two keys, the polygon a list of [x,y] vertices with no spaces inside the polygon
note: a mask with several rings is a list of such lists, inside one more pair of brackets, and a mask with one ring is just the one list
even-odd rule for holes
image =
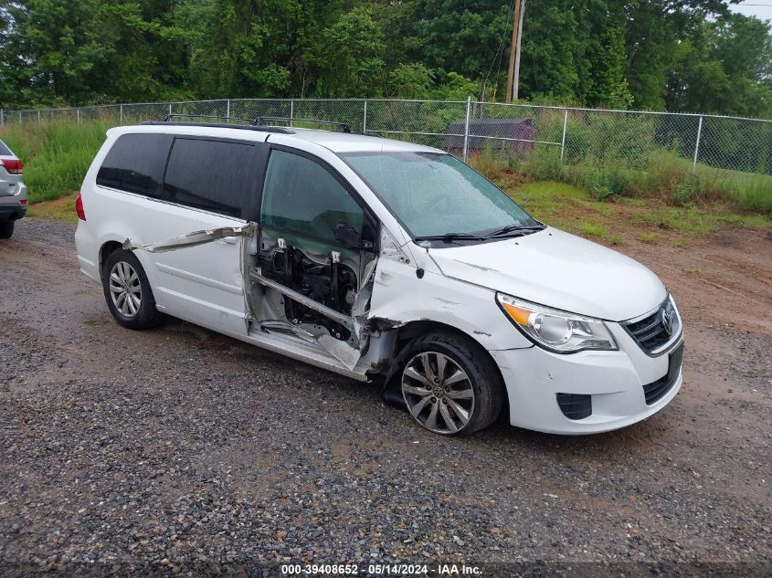
{"label": "front door window of the minivan, above the exposed door internals", "polygon": [[343,223],[362,233],[362,208],[321,164],[298,154],[271,151],[260,222],[335,241]]}

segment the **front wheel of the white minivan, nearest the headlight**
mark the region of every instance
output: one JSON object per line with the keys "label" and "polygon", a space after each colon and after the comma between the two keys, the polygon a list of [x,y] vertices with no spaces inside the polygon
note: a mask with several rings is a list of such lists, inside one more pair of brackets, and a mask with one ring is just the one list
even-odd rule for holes
{"label": "front wheel of the white minivan, nearest the headlight", "polygon": [[477,342],[432,331],[410,342],[399,359],[399,387],[407,411],[429,431],[471,434],[501,414],[502,378]]}

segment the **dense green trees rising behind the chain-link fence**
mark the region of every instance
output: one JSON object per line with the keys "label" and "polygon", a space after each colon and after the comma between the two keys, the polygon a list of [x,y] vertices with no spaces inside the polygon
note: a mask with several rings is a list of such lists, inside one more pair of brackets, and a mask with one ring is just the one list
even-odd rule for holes
{"label": "dense green trees rising behind the chain-link fence", "polygon": [[[769,26],[737,0],[530,0],[521,95],[772,113]],[[0,0],[0,102],[495,99],[500,0]]]}

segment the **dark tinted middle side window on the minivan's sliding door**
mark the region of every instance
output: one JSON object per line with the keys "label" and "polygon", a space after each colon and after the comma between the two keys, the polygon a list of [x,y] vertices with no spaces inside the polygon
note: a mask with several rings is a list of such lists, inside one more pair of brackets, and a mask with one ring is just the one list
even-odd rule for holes
{"label": "dark tinted middle side window on the minivan's sliding door", "polygon": [[249,203],[253,151],[238,142],[176,139],[164,193],[174,203],[240,217]]}

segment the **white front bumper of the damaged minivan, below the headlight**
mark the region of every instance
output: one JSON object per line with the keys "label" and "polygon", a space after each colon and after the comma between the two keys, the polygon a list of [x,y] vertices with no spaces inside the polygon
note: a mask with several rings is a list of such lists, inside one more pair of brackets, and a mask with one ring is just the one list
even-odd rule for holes
{"label": "white front bumper of the damaged minivan, below the headlight", "polygon": [[[682,346],[683,337],[651,357],[618,324],[608,326],[619,351],[561,355],[534,346],[491,352],[507,388],[513,426],[554,434],[597,434],[639,422],[670,403],[683,382],[680,357],[672,356],[677,366],[671,368],[670,353]],[[644,385],[669,373],[666,393],[647,404]],[[557,394],[589,396],[591,415],[569,419]]]}

